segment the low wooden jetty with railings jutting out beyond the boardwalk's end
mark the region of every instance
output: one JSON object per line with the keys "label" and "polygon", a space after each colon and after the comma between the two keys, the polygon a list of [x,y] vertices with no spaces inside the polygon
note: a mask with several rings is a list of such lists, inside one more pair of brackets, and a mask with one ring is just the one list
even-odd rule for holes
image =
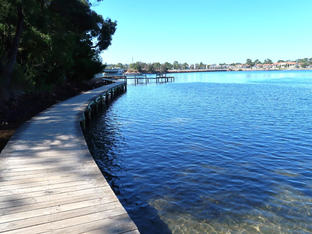
{"label": "low wooden jetty with railings jutting out beyond the boardwalk's end", "polygon": [[139,84],[139,79],[145,79],[145,83],[149,83],[149,79],[156,80],[156,83],[163,82],[163,80],[165,83],[174,82],[174,76],[171,76],[171,73],[156,74],[156,77],[147,77],[144,73],[124,73],[121,75],[103,76],[103,80],[105,79],[123,79],[125,82],[127,82],[127,79],[134,79],[135,84]]}

